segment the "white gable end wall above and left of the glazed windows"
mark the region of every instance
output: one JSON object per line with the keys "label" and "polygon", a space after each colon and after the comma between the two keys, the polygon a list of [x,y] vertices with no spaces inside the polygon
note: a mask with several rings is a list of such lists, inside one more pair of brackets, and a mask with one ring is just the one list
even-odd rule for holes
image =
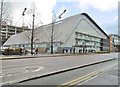
{"label": "white gable end wall above and left of the glazed windows", "polygon": [[[99,38],[106,38],[106,36],[101,32],[87,17],[80,15],[78,22],[74,25],[74,28],[71,31],[66,31],[69,33],[69,37],[66,38],[66,42],[63,46],[74,46],[75,45],[75,32],[85,33],[88,35],[96,36]],[[68,30],[68,29],[67,29]]]}

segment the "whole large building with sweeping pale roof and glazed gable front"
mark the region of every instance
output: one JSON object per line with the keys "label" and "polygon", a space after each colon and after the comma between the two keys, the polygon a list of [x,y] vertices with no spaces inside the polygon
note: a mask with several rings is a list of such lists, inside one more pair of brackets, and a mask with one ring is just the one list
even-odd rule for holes
{"label": "whole large building with sweeping pale roof and glazed gable front", "polygon": [[[109,37],[86,13],[60,20],[54,25],[42,25],[34,29],[34,48],[51,50],[51,29],[53,28],[54,52],[109,51]],[[30,49],[31,31],[11,36],[4,46]]]}

